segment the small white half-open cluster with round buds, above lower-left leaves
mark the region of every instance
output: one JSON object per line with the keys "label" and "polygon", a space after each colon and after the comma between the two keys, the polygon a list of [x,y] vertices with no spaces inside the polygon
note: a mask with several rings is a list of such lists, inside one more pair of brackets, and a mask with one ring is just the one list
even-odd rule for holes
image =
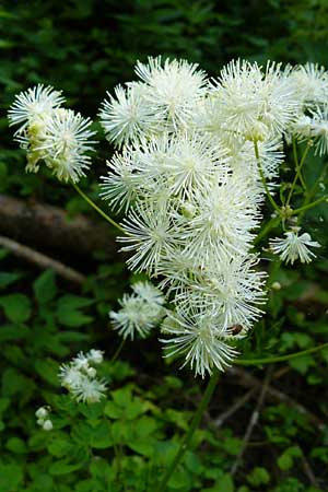
{"label": "small white half-open cluster with round buds, above lower-left leaves", "polygon": [[71,362],[60,366],[61,386],[67,388],[78,401],[86,403],[99,401],[107,388],[106,383],[97,378],[97,372],[93,365],[102,362],[103,352],[101,350],[92,349],[85,354],[80,352]]}

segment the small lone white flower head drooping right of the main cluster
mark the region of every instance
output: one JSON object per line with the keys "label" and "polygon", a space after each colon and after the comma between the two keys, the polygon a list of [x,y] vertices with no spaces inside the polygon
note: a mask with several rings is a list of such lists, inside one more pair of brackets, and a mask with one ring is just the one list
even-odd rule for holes
{"label": "small lone white flower head drooping right of the main cluster", "polygon": [[316,255],[309,249],[311,247],[320,247],[319,243],[312,241],[308,233],[298,235],[300,227],[293,227],[284,233],[285,237],[276,237],[270,241],[270,248],[279,255],[282,261],[294,265],[300,259],[302,263],[309,263]]}

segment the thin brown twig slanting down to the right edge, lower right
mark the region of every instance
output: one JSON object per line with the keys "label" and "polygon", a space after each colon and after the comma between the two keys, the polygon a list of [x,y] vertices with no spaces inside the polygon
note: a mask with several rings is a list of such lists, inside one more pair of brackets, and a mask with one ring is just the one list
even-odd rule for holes
{"label": "thin brown twig slanting down to the right edge, lower right", "polygon": [[[259,388],[262,385],[262,383],[257,377],[253,376],[247,371],[241,367],[231,367],[229,370],[229,374],[232,374],[239,384],[248,388],[249,387]],[[283,402],[289,407],[295,408],[300,413],[306,415],[308,421],[315,424],[317,429],[319,429],[320,431],[325,429],[325,423],[321,419],[319,419],[317,415],[315,415],[305,407],[303,407],[303,405],[298,403],[298,401],[294,400],[286,394],[280,391],[279,389],[273,388],[270,385],[268,387],[268,398],[272,398],[273,400]]]}

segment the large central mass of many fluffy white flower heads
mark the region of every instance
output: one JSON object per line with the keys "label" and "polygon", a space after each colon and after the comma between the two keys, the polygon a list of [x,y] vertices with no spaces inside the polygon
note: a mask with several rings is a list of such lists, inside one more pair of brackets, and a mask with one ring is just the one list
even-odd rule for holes
{"label": "large central mass of many fluffy white flower heads", "polygon": [[[204,376],[233,360],[235,339],[262,313],[266,276],[250,253],[265,197],[258,160],[274,186],[300,101],[291,73],[274,63],[234,61],[212,82],[186,61],[150,59],[136,72],[139,82],[101,110],[119,148],[102,196],[126,214],[119,241],[130,269],[167,290],[167,354],[183,353]],[[121,306],[120,326],[136,324],[134,296]]]}

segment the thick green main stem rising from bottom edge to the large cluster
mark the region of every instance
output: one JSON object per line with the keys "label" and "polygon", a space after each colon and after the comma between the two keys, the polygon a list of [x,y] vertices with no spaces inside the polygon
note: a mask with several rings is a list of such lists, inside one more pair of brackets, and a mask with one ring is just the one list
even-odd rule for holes
{"label": "thick green main stem rising from bottom edge to the large cluster", "polygon": [[180,447],[179,447],[179,449],[178,449],[174,460],[172,461],[169,468],[167,469],[167,471],[166,471],[162,482],[160,483],[160,487],[156,490],[156,492],[164,492],[166,490],[167,483],[168,483],[172,475],[174,473],[176,467],[180,462],[184,454],[188,449],[188,446],[190,444],[190,441],[191,441],[191,437],[194,435],[194,432],[198,427],[198,425],[200,423],[200,420],[202,418],[202,414],[203,414],[204,410],[207,409],[207,407],[208,407],[208,405],[209,405],[209,402],[210,402],[210,400],[212,398],[212,395],[213,395],[213,391],[215,389],[218,379],[219,379],[219,371],[215,371],[212,374],[212,376],[211,376],[211,378],[210,378],[210,380],[208,383],[208,386],[206,388],[203,397],[202,397],[202,399],[201,399],[201,401],[199,403],[199,407],[197,408],[196,413],[195,413],[195,415],[192,418],[190,427],[189,427],[188,432],[185,434],[185,436],[184,436],[184,438],[183,438],[183,441],[180,443]]}

